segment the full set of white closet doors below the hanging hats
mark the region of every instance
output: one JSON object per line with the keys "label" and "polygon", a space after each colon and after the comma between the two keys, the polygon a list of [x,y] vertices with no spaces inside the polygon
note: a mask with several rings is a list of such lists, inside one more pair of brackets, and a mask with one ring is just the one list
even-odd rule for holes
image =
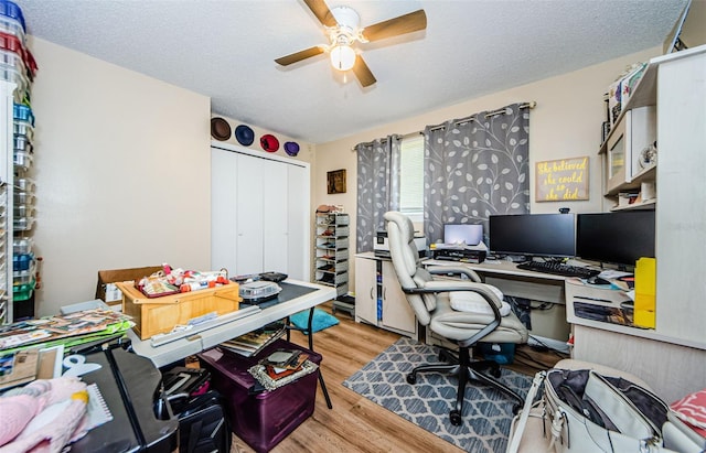
{"label": "full set of white closet doors below the hanging hats", "polygon": [[213,144],[212,268],[309,280],[309,172],[306,162]]}

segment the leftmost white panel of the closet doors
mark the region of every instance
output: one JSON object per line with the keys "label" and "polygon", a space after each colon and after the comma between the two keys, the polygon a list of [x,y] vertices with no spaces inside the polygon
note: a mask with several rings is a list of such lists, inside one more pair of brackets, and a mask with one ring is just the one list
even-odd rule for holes
{"label": "leftmost white panel of the closet doors", "polygon": [[211,149],[211,270],[236,273],[238,154]]}

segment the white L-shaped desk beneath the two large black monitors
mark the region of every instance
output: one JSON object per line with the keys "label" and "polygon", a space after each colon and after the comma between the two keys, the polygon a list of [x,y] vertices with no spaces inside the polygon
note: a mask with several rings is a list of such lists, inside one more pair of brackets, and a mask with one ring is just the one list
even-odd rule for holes
{"label": "white L-shaped desk beneath the two large black monitors", "polygon": [[[706,342],[660,334],[655,330],[611,324],[576,315],[574,303],[620,306],[628,300],[623,291],[584,284],[571,277],[517,269],[509,261],[468,263],[426,260],[425,265],[466,266],[486,283],[509,295],[556,302],[566,306],[563,322],[574,333],[574,359],[596,363],[631,373],[646,380],[665,401],[704,388]],[[556,293],[556,291],[559,291]],[[524,294],[523,294],[524,292]],[[542,294],[556,296],[548,300]],[[559,305],[560,304],[560,305]],[[533,312],[534,313],[534,312]],[[557,312],[558,317],[558,312]],[[555,320],[559,322],[559,320]],[[568,323],[567,323],[568,322]],[[533,328],[535,317],[533,317]],[[533,333],[534,335],[534,333]]]}

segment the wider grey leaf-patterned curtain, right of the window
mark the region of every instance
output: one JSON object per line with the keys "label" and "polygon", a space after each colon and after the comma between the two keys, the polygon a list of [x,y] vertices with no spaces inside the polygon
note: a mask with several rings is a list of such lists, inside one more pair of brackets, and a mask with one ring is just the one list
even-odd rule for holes
{"label": "wider grey leaf-patterned curtain, right of the window", "polygon": [[425,235],[443,224],[483,224],[493,214],[530,212],[530,111],[513,104],[425,131]]}

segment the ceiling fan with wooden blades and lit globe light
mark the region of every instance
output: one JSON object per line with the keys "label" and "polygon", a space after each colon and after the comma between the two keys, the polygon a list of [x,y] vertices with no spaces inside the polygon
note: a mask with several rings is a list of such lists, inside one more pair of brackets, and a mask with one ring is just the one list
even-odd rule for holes
{"label": "ceiling fan with wooden blades and lit globe light", "polygon": [[304,0],[307,7],[323,24],[329,44],[320,44],[307,50],[295,52],[275,60],[276,63],[288,66],[302,60],[329,53],[331,65],[339,71],[353,69],[362,86],[373,85],[377,79],[365,64],[363,57],[355,52],[353,44],[359,41],[367,43],[411,33],[427,28],[427,14],[417,10],[407,14],[388,19],[376,24],[361,28],[360,15],[349,7],[329,9],[324,0]]}

